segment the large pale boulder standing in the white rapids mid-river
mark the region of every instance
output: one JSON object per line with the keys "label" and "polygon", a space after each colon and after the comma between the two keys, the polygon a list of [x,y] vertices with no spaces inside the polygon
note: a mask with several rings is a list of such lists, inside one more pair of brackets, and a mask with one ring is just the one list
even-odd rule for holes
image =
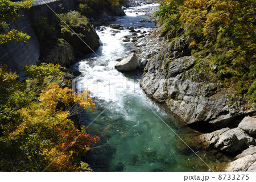
{"label": "large pale boulder standing in the white rapids mid-river", "polygon": [[139,60],[135,53],[131,53],[125,59],[115,65],[115,69],[118,71],[133,71],[139,65]]}

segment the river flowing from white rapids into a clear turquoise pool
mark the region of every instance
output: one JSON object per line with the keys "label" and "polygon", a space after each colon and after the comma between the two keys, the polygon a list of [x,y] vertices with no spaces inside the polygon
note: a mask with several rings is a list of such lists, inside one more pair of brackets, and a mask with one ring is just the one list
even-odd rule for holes
{"label": "river flowing from white rapids into a clear turquoise pool", "polygon": [[[143,25],[146,28],[140,30],[148,31],[155,23],[139,20],[148,19],[143,11],[150,6],[156,5],[127,9],[126,16],[117,17],[111,23],[125,27]],[[88,55],[72,67],[82,73],[76,78],[76,89],[89,89],[96,103],[93,113],[83,111],[81,122],[89,126],[87,133],[101,138],[88,151],[85,162],[94,171],[209,171],[209,166],[220,163],[223,159],[217,159],[212,152],[196,150],[207,166],[184,147],[176,134],[195,131],[182,127],[172,115],[146,97],[139,86],[143,69],[121,73],[114,68],[117,58],[125,57],[134,49],[132,43],[122,42],[123,36],[130,36],[129,30],[112,35],[112,28],[101,26],[97,34],[102,43],[96,52],[98,56]]]}

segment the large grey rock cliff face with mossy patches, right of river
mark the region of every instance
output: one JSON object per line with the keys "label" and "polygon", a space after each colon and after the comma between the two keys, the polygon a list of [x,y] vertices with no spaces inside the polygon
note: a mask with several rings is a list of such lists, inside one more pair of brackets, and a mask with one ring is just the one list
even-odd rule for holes
{"label": "large grey rock cliff face with mossy patches, right of river", "polygon": [[141,86],[149,97],[191,126],[224,127],[253,113],[232,88],[223,88],[214,69],[209,57],[191,56],[188,39],[180,38],[148,62]]}

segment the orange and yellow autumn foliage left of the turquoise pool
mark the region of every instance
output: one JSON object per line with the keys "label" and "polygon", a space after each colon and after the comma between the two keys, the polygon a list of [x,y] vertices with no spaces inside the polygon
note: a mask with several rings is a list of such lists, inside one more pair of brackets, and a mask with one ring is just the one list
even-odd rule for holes
{"label": "orange and yellow autumn foliage left of the turquoise pool", "polygon": [[[26,67],[27,73],[37,71],[26,82],[0,68],[0,171],[43,171],[60,154],[46,171],[80,171],[81,155],[100,139],[69,119],[75,107],[93,110],[95,104],[89,91],[72,94],[70,88],[61,88],[54,81],[62,76],[58,67]],[[53,80],[40,81],[40,93],[31,84],[37,75]]]}

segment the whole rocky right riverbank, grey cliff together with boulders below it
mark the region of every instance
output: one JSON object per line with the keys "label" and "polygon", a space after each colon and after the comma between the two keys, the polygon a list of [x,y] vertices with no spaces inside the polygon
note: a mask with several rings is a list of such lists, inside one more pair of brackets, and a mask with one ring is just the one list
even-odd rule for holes
{"label": "whole rocky right riverbank, grey cliff together with boulders below it", "polygon": [[[255,152],[247,152],[253,151],[255,134],[245,129],[255,131],[255,108],[245,107],[242,97],[216,81],[210,57],[194,56],[191,39],[180,36],[170,45],[162,30],[155,28],[150,38],[135,43],[141,51],[141,62],[146,63],[141,80],[144,92],[186,125],[205,133],[195,137],[201,141],[197,147],[212,148],[239,158],[218,166],[219,170],[255,171]],[[153,54],[146,54],[145,50]],[[240,165],[236,166],[237,163]]]}

